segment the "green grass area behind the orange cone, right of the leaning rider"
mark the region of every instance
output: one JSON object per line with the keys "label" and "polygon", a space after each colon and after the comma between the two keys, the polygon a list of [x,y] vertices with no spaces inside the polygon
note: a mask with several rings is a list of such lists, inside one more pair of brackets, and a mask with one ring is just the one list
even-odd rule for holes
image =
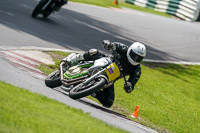
{"label": "green grass area behind the orange cone, right of the leaning rider", "polygon": [[122,89],[123,80],[115,83],[112,110],[129,117],[139,105],[141,119],[135,119],[139,123],[160,132],[198,133],[199,81],[200,66],[143,63],[141,79],[132,93]]}

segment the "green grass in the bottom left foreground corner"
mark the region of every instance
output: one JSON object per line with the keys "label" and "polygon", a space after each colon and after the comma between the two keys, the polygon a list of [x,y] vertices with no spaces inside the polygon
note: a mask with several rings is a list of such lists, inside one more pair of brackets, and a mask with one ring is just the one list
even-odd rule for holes
{"label": "green grass in the bottom left foreground corner", "polygon": [[0,82],[0,133],[121,133],[81,110]]}

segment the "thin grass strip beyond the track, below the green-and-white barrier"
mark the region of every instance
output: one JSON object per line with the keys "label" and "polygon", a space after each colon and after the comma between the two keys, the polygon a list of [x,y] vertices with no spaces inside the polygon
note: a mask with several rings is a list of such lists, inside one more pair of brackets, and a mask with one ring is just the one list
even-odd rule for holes
{"label": "thin grass strip beyond the track, below the green-and-white barrier", "polygon": [[91,4],[91,5],[96,5],[96,6],[102,6],[102,7],[115,7],[115,8],[126,7],[126,8],[139,10],[139,11],[143,11],[143,12],[148,12],[148,13],[156,14],[156,15],[160,15],[160,16],[172,17],[169,14],[154,11],[153,9],[149,9],[149,8],[132,5],[132,4],[126,3],[124,1],[119,1],[118,5],[113,4],[114,0],[70,0],[70,1]]}

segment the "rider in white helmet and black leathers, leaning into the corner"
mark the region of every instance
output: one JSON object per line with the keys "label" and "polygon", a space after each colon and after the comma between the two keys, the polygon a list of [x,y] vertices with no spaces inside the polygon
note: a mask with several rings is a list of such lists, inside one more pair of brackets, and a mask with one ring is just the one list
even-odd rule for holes
{"label": "rider in white helmet and black leathers, leaning into the corner", "polygon": [[[119,62],[122,67],[122,73],[123,75],[129,75],[127,83],[124,84],[124,90],[126,93],[132,92],[141,75],[140,62],[146,56],[145,45],[135,42],[131,46],[127,46],[119,42],[110,42],[109,40],[103,40],[102,43],[106,50],[115,51],[120,55]],[[97,49],[90,49],[85,53],[77,54],[71,58],[70,63],[76,64],[81,60],[90,61],[105,56],[104,53]],[[92,96],[97,98],[104,107],[110,108],[113,105],[115,97],[114,84],[92,94]]]}

